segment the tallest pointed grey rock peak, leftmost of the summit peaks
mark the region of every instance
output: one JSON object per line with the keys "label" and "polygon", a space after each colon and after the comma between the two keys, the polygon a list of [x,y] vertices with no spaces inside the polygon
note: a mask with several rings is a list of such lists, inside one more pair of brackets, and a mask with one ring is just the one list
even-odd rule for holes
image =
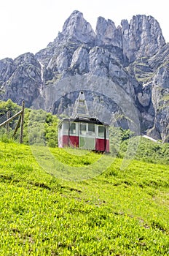
{"label": "tallest pointed grey rock peak, leftmost of the summit peaks", "polygon": [[80,42],[93,42],[95,32],[90,23],[83,18],[82,12],[74,11],[63,25],[63,31],[60,36],[74,38]]}

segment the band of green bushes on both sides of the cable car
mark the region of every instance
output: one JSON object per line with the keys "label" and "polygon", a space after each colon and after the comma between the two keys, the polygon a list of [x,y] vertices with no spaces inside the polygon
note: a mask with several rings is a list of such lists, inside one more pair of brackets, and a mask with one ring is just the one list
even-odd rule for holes
{"label": "band of green bushes on both sides of the cable car", "polygon": [[[13,116],[20,110],[20,106],[8,99],[0,101],[0,124],[7,119],[7,111]],[[20,129],[15,138],[12,138],[17,125],[15,118],[9,123],[9,135],[6,127],[0,127],[0,141],[19,141]],[[25,108],[23,143],[28,145],[58,146],[58,122],[59,118],[44,110],[31,110]],[[133,137],[133,132],[121,127],[110,128],[111,155],[120,158],[129,157],[153,162],[169,164],[169,143],[154,143],[146,138]],[[132,152],[133,151],[133,152]],[[127,153],[126,153],[127,152]]]}

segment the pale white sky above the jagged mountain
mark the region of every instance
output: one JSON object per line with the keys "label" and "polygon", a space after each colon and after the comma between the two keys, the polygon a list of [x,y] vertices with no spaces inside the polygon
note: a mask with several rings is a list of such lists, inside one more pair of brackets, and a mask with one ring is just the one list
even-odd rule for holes
{"label": "pale white sky above the jagged mountain", "polygon": [[169,42],[168,0],[0,0],[0,59],[46,48],[74,10],[82,12],[94,30],[99,16],[119,26],[133,15],[151,15]]}

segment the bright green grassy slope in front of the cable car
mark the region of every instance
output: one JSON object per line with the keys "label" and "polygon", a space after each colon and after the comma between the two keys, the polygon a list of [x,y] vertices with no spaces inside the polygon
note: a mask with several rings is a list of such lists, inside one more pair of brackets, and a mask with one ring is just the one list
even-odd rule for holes
{"label": "bright green grassy slope in front of the cable car", "polygon": [[0,143],[1,256],[169,254],[168,165],[49,152]]}

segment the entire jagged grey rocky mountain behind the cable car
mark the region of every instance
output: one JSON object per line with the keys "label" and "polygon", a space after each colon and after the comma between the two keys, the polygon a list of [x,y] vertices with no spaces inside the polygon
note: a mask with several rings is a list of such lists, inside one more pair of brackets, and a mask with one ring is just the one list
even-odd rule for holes
{"label": "entire jagged grey rocky mountain behind the cable car", "polygon": [[91,115],[127,129],[135,108],[138,133],[169,142],[168,63],[169,45],[152,16],[117,27],[99,17],[93,31],[74,11],[47,48],[0,60],[0,99],[69,114],[84,89]]}

